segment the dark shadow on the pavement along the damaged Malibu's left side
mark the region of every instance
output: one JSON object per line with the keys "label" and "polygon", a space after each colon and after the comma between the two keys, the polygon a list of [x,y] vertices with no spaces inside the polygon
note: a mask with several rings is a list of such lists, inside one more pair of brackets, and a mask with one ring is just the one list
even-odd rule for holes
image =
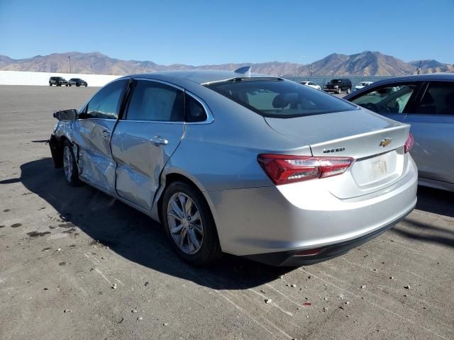
{"label": "dark shadow on the pavement along the damaged Malibu's left side", "polygon": [[50,232],[63,227],[77,235],[79,228],[92,238],[89,244],[104,244],[125,259],[167,275],[214,289],[238,290],[268,283],[293,270],[228,255],[206,268],[190,266],[172,251],[159,223],[91,186],[68,186],[51,158],[22,164],[21,177],[0,181],[0,186],[19,181],[60,213],[57,225],[48,226]]}

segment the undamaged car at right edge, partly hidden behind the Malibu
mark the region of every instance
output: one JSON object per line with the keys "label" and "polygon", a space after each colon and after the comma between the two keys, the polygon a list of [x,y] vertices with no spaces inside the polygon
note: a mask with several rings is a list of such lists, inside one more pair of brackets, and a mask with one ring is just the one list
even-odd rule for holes
{"label": "undamaged car at right edge, partly hidden behind the Malibu", "polygon": [[344,98],[410,124],[419,184],[454,191],[454,74],[385,79]]}

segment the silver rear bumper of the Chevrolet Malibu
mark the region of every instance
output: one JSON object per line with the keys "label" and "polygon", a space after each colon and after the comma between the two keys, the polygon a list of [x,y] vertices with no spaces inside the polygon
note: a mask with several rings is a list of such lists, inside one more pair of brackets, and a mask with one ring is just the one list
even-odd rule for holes
{"label": "silver rear bumper of the Chevrolet Malibu", "polygon": [[[399,222],[416,205],[417,177],[416,166],[409,157],[408,169],[401,179],[356,198],[336,198],[323,186],[327,179],[208,191],[205,195],[223,251],[262,258],[267,257],[263,254],[273,253],[278,258],[276,263],[284,263],[298,251],[319,248],[326,249],[316,255],[326,259]],[[286,259],[282,260],[282,256]]]}

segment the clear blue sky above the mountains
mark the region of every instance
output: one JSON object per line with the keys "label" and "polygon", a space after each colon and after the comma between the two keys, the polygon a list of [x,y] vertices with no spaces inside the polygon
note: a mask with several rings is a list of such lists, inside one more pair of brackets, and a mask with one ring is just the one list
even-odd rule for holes
{"label": "clear blue sky above the mountains", "polygon": [[372,50],[454,63],[453,17],[454,0],[0,0],[0,54],[307,64]]}

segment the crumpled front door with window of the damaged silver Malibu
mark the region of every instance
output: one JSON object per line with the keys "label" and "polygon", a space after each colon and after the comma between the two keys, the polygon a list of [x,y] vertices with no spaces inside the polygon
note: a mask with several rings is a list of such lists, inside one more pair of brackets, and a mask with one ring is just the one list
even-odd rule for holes
{"label": "crumpled front door with window of the damaged silver Malibu", "polygon": [[79,175],[96,186],[115,192],[115,162],[110,140],[129,79],[114,81],[99,90],[74,124]]}

